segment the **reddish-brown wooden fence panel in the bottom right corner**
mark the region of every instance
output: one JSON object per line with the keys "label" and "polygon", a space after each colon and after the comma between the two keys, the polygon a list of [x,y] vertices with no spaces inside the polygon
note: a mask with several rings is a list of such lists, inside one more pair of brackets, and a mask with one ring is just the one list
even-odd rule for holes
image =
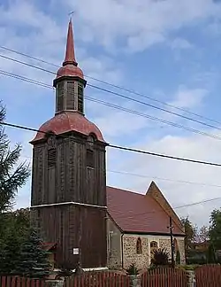
{"label": "reddish-brown wooden fence panel in the bottom right corner", "polygon": [[194,271],[197,287],[220,287],[221,266],[215,264],[203,265]]}

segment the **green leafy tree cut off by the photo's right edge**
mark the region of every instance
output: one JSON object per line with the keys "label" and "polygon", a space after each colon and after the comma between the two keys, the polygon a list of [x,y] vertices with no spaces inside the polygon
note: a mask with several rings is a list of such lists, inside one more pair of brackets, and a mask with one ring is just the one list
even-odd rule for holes
{"label": "green leafy tree cut off by the photo's right edge", "polygon": [[221,210],[215,209],[210,215],[210,243],[215,250],[221,249]]}

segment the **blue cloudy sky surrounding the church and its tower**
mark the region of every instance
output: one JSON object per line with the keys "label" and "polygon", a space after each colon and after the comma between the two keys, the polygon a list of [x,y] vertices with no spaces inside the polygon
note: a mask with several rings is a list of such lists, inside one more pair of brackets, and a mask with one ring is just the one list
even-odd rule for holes
{"label": "blue cloudy sky surrounding the church and its tower", "polygon": [[[105,140],[144,151],[221,163],[221,1],[218,0],[179,0],[179,3],[175,0],[2,0],[0,46],[53,64],[0,48],[0,98],[7,107],[7,122],[40,128],[54,116],[55,93],[53,89],[6,77],[2,71],[49,85],[54,74],[1,56],[56,73],[64,60],[68,13],[72,11],[75,54],[88,83],[210,125],[87,87],[85,96],[140,112],[140,115],[123,112],[86,99],[86,115],[102,130]],[[143,114],[170,121],[179,128],[150,120]],[[11,148],[15,143],[23,146],[20,160],[31,163],[29,141],[34,132],[16,128],[6,131]],[[155,181],[173,207],[221,197],[220,174],[221,167],[107,149],[109,185],[144,194],[150,182]],[[30,186],[31,180],[19,190],[15,207],[30,205]],[[202,226],[209,224],[211,211],[220,206],[221,199],[217,199],[175,211]]]}

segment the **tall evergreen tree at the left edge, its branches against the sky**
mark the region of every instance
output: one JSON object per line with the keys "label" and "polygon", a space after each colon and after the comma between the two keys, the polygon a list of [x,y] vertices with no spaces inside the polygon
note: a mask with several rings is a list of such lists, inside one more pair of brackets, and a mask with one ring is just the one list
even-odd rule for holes
{"label": "tall evergreen tree at the left edge, its branches against the sky", "polygon": [[3,125],[5,114],[0,101],[0,273],[10,274],[23,240],[21,231],[24,231],[21,228],[24,222],[16,224],[20,214],[10,211],[19,188],[27,182],[30,169],[26,162],[19,164],[21,145],[16,144],[14,149],[10,147]]}

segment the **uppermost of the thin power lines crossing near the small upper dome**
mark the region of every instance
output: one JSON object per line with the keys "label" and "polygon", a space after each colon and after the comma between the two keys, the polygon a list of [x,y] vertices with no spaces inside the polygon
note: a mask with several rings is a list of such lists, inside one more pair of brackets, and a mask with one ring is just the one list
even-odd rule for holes
{"label": "uppermost of the thin power lines crossing near the small upper dome", "polygon": [[[4,47],[4,46],[0,46],[0,48],[3,49],[3,50],[11,51],[11,52],[13,52],[13,53],[15,53],[15,54],[18,54],[18,55],[21,55],[21,56],[23,56],[23,57],[32,58],[32,59],[34,59],[34,60],[36,60],[36,61],[42,62],[42,63],[44,63],[44,64],[48,64],[48,65],[50,65],[50,66],[60,67],[60,66],[58,66],[58,65],[56,65],[56,64],[53,64],[53,63],[48,62],[48,61],[45,61],[45,60],[43,60],[42,58],[36,58],[36,57],[31,56],[31,55],[27,55],[26,53],[22,53],[22,52],[20,52],[20,51],[18,51],[18,50],[12,50],[12,49],[9,49],[9,48]],[[171,104],[165,103],[164,101],[158,100],[158,99],[156,99],[156,98],[154,98],[154,97],[148,97],[148,96],[143,95],[143,94],[141,94],[141,93],[139,93],[139,92],[136,92],[136,91],[134,91],[134,90],[132,90],[132,89],[126,89],[126,88],[124,88],[124,87],[115,85],[115,84],[110,83],[110,82],[108,82],[108,81],[103,81],[103,80],[97,79],[97,78],[95,78],[95,77],[91,77],[91,76],[89,76],[89,75],[85,75],[85,76],[86,76],[88,79],[101,82],[101,83],[103,83],[103,84],[105,84],[105,85],[108,85],[108,86],[110,86],[110,87],[124,90],[124,91],[126,91],[126,92],[128,92],[128,93],[131,93],[131,94],[133,94],[133,95],[137,95],[137,96],[139,96],[139,97],[148,98],[149,100],[154,101],[154,102],[156,102],[156,103],[159,103],[159,104],[162,104],[162,105],[166,105],[166,106],[168,106],[168,107],[170,107],[170,108],[176,109],[176,110],[181,111],[181,112],[187,112],[187,113],[192,114],[192,115],[194,115],[194,116],[196,116],[196,117],[199,117],[199,118],[201,118],[201,119],[210,120],[210,121],[212,121],[212,122],[214,122],[214,123],[217,123],[217,124],[221,125],[221,122],[220,122],[220,121],[212,120],[212,119],[210,119],[210,118],[208,118],[208,117],[202,116],[201,114],[198,114],[198,113],[195,113],[195,112],[190,112],[190,111],[188,111],[188,110],[186,110],[186,109],[183,109],[183,108],[181,108],[181,107],[178,107],[178,106],[176,106],[176,105],[171,105]]]}

